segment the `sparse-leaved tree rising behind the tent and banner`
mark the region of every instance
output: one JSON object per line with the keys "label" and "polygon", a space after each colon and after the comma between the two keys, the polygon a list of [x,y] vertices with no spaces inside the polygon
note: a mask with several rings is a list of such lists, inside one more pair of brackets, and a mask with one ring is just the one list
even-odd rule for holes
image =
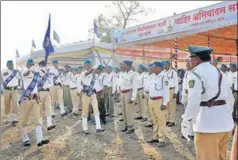
{"label": "sparse-leaved tree rising behind the tent and banner", "polygon": [[[125,29],[131,22],[139,22],[138,16],[147,16],[153,13],[151,8],[145,8],[138,1],[113,1],[112,5],[105,6],[106,8],[113,8],[115,13],[106,17],[103,14],[97,16],[96,23],[100,33],[105,33],[102,36],[101,42],[112,42],[112,34],[115,30]],[[89,30],[89,35],[92,35],[93,30]]]}

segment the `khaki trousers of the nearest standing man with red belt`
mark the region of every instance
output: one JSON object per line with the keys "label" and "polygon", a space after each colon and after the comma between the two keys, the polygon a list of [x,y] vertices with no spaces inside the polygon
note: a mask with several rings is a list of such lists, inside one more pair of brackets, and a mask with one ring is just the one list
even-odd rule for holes
{"label": "khaki trousers of the nearest standing man with red belt", "polygon": [[153,121],[153,139],[165,141],[166,131],[166,110],[161,110],[162,99],[149,100],[149,108],[151,111],[151,118]]}

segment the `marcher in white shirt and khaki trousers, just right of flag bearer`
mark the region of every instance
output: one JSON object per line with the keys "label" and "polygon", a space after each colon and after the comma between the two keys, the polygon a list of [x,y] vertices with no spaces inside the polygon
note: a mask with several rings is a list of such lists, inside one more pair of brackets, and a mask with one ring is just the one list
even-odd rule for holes
{"label": "marcher in white shirt and khaki trousers, just right of flag bearer", "polygon": [[54,86],[50,87],[50,95],[52,97],[52,103],[59,105],[60,114],[64,117],[67,113],[64,109],[63,89],[62,86],[62,72],[59,70],[58,61],[53,60],[53,68],[50,69],[50,74],[53,75]]}

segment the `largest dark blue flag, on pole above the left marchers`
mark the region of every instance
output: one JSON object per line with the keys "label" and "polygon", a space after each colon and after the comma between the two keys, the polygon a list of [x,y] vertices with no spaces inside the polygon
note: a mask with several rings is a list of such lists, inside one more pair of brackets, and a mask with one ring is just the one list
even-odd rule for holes
{"label": "largest dark blue flag, on pole above the left marchers", "polygon": [[49,55],[54,52],[54,47],[51,43],[51,40],[50,40],[50,22],[51,22],[51,16],[49,15],[49,21],[48,21],[48,27],[47,27],[47,30],[46,30],[46,33],[45,33],[45,38],[44,38],[44,41],[43,41],[43,48],[45,50],[45,65],[47,64],[47,60],[48,60],[48,57]]}

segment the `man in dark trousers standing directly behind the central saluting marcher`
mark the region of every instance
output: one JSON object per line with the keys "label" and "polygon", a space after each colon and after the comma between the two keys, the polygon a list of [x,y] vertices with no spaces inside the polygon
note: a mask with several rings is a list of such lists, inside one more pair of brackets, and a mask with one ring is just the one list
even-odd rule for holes
{"label": "man in dark trousers standing directly behind the central saluting marcher", "polygon": [[103,78],[105,76],[105,73],[103,72],[104,67],[102,65],[99,65],[96,72],[98,74],[98,77],[95,81],[94,85],[94,91],[97,95],[98,100],[98,109],[100,112],[100,120],[103,125],[106,124],[106,107],[104,103],[104,85],[103,85]]}

